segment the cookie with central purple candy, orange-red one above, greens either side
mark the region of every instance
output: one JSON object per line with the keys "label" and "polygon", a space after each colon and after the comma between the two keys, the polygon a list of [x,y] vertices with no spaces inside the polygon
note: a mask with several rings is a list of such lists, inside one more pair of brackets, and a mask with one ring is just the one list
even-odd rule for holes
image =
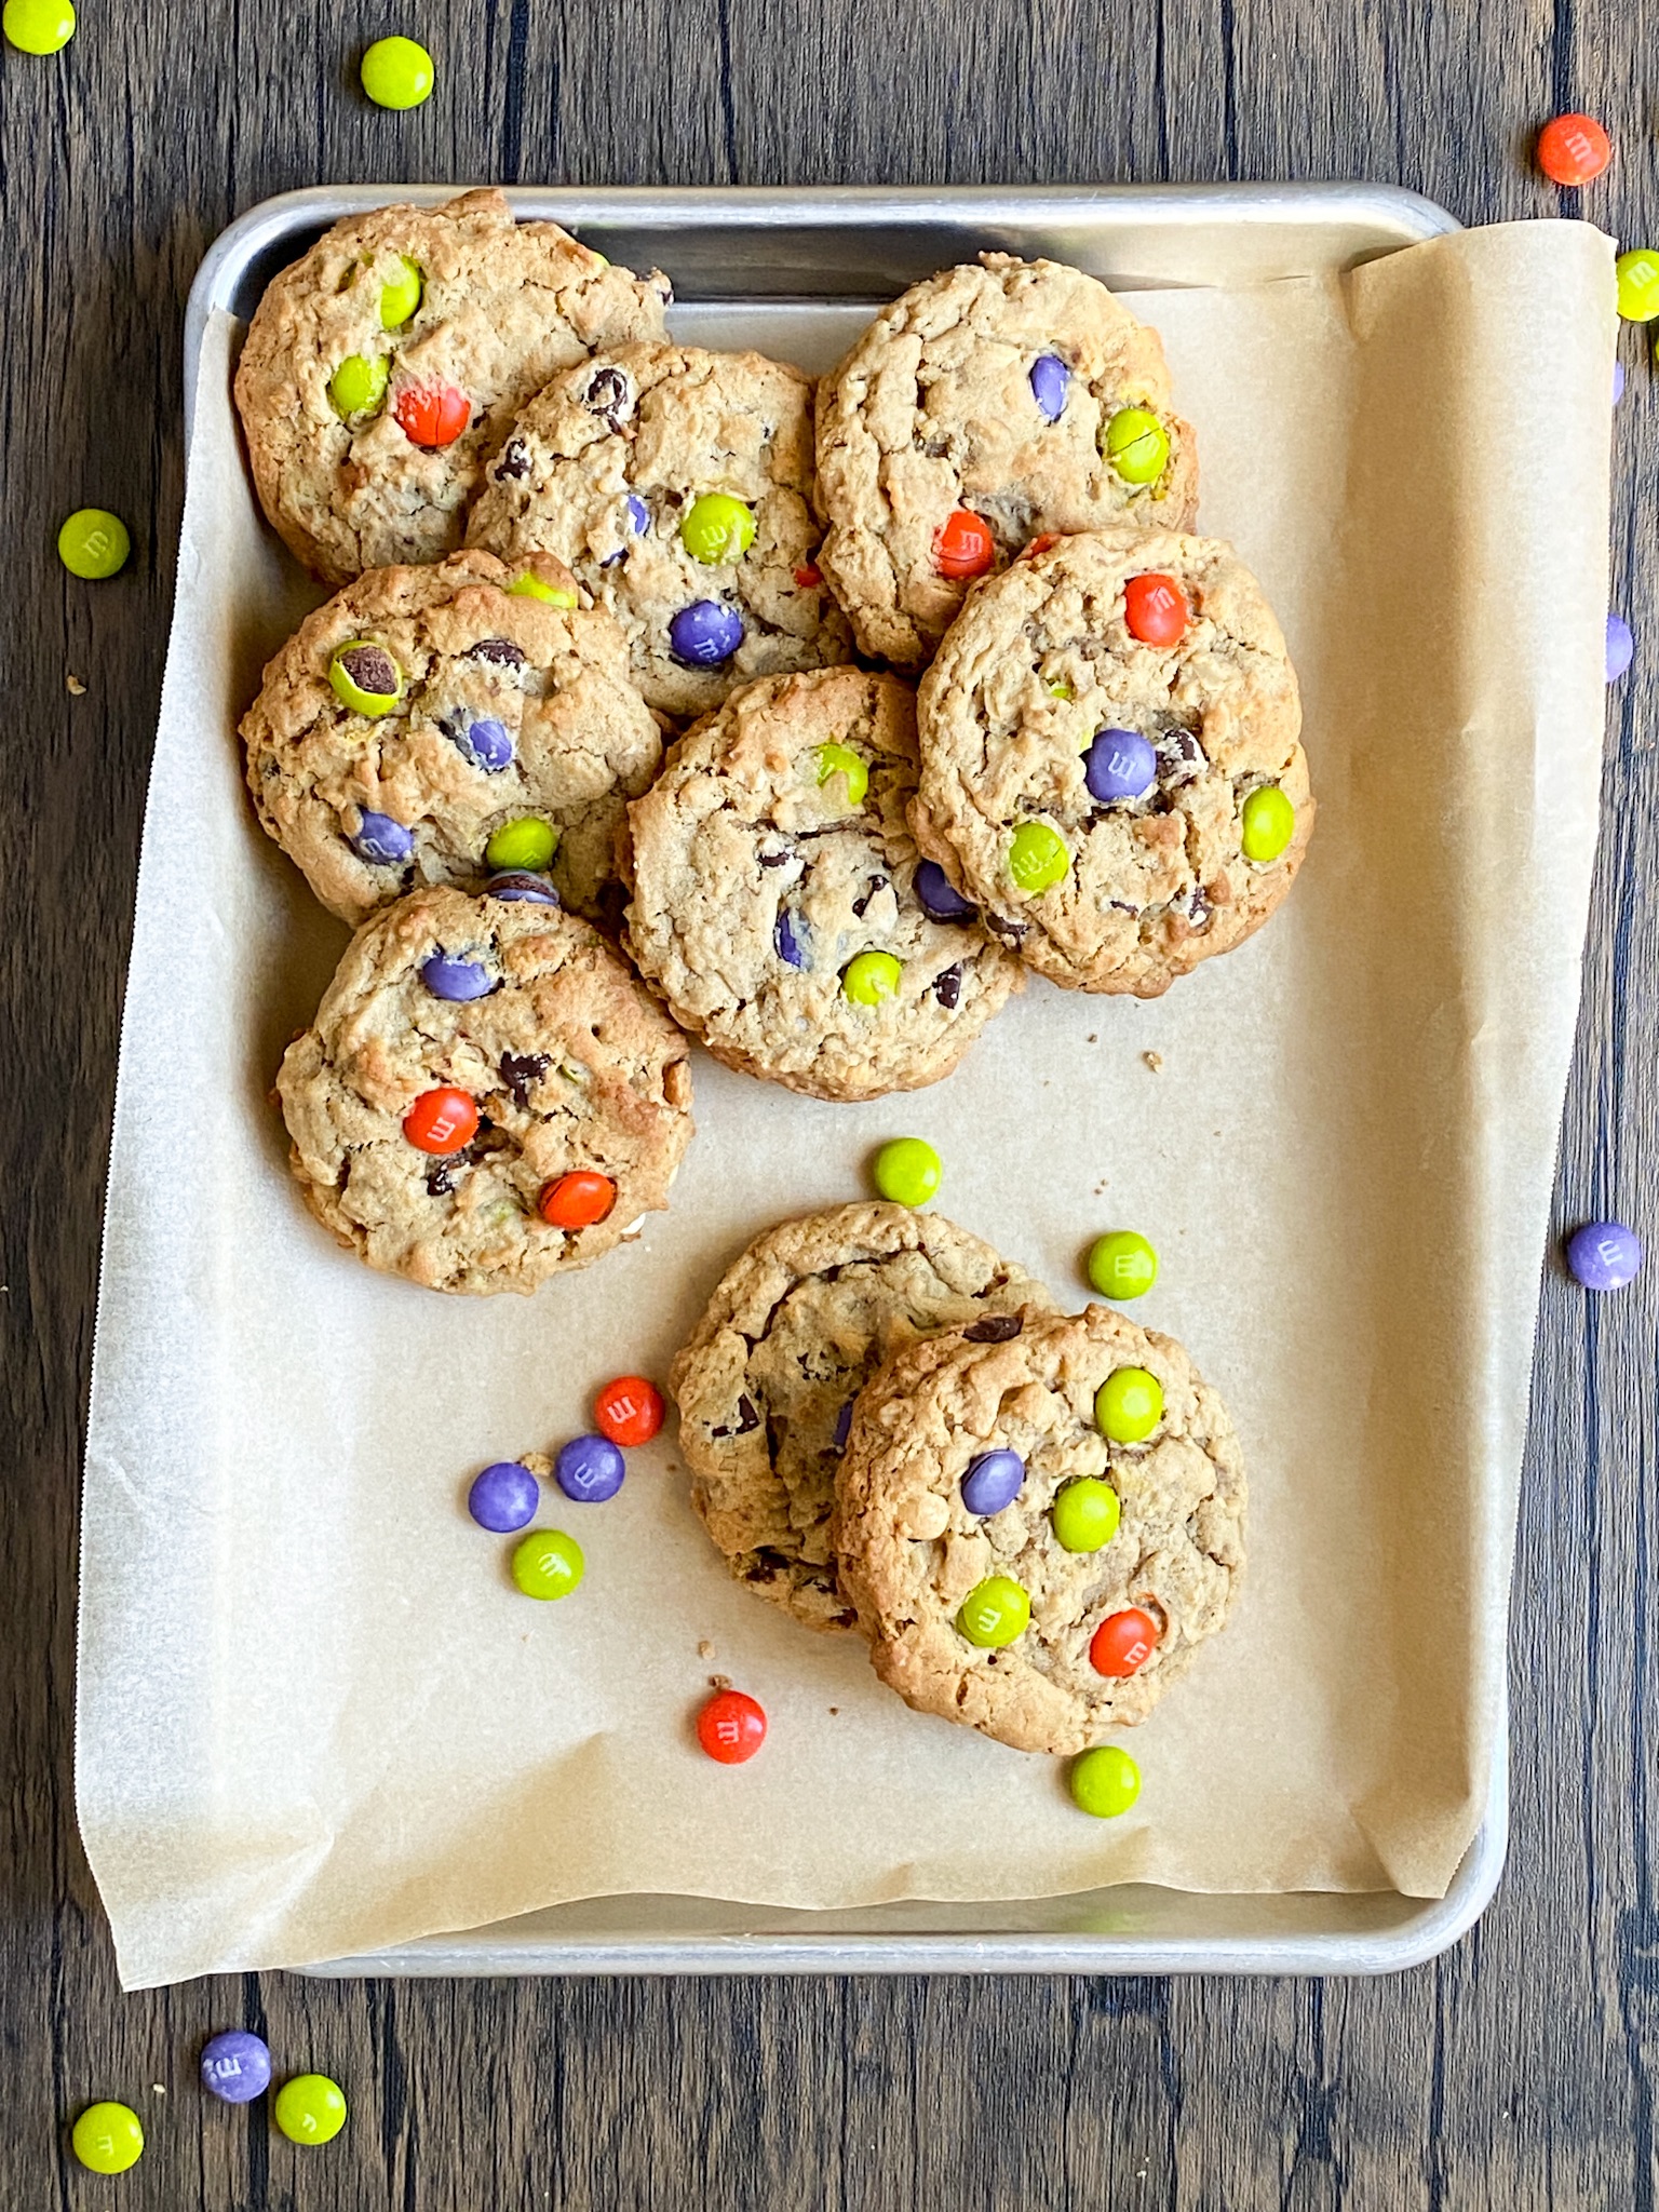
{"label": "cookie with central purple candy, orange-red one above, greens either side", "polygon": [[1272,608],[1214,538],[1031,546],[922,679],[922,852],[1055,982],[1157,998],[1250,936],[1314,827]]}

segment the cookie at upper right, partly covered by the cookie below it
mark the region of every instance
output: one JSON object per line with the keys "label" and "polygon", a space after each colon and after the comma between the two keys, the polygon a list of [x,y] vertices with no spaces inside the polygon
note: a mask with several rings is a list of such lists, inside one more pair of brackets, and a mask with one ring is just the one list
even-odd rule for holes
{"label": "cookie at upper right, partly covered by the cookie below it", "polygon": [[1044,531],[1197,513],[1155,330],[1055,261],[911,285],[818,392],[818,564],[865,653],[920,668],[975,575]]}

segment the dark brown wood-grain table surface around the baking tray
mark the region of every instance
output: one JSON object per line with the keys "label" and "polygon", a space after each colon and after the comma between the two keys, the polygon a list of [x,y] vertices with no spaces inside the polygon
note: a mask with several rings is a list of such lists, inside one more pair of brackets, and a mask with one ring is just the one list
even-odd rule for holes
{"label": "dark brown wood-grain table surface around the baking tray", "polygon": [[[1371,177],[1484,223],[1579,212],[1526,144],[1553,111],[1588,106],[1619,157],[1582,212],[1641,239],[1659,234],[1655,27],[1639,0],[407,0],[385,15],[84,0],[60,58],[4,51],[0,2212],[1652,2205],[1652,1276],[1590,1305],[1546,1272],[1509,1874],[1473,1936],[1394,1980],[246,1975],[122,1997],[71,1743],[100,1210],[181,504],[181,314],[215,232],[323,179]],[[411,115],[354,88],[361,42],[387,29],[438,55]],[[1641,639],[1659,407],[1637,334],[1624,343],[1615,604]],[[115,584],[58,566],[53,533],[82,502],[133,522]],[[1659,1046],[1655,666],[1659,626],[1613,695],[1557,1217],[1608,1210],[1659,1237],[1641,1141]],[[181,1159],[188,1146],[179,1099]],[[330,2150],[199,2095],[199,2042],[234,2022],[347,2084],[354,2121]],[[64,2152],[64,2119],[108,2095],[150,2137],[122,2181]]]}

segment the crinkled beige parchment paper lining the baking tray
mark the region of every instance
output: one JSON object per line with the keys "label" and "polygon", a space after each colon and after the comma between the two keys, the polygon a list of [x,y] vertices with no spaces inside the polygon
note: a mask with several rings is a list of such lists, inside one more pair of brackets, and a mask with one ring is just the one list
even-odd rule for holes
{"label": "crinkled beige parchment paper lining the baking tray", "polygon": [[[628,1889],[1444,1889],[1493,1747],[1597,830],[1610,246],[1531,223],[1139,305],[1203,526],[1301,670],[1321,821],[1290,905],[1159,1004],[1033,982],[914,1097],[821,1106],[699,1057],[672,1212],[533,1301],[374,1276],[288,1179],[265,1093],[345,936],[254,827],[232,730],[316,588],[254,515],[210,332],[84,1491],[80,1820],[128,1986]],[[858,321],[679,327],[823,367]],[[1137,1318],[1245,1442],[1243,1601],[1128,1739],[1115,1823],[728,1582],[672,1436],[615,1504],[544,1509],[588,1555],[557,1606],[462,1511],[599,1380],[664,1374],[745,1239],[863,1192],[896,1133],[1075,1303],[1093,1234],[1150,1234]],[[695,1747],[710,1672],[770,1712],[748,1767]]]}

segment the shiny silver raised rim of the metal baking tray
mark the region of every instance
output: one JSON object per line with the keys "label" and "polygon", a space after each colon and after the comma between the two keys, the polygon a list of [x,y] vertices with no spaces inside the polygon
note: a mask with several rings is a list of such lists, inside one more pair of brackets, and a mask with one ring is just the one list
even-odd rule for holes
{"label": "shiny silver raised rim of the metal baking tray", "polygon": [[[190,283],[184,316],[186,465],[195,431],[201,345],[215,310],[228,310],[250,263],[285,237],[338,221],[389,197],[414,204],[451,199],[465,184],[319,184],[276,192],[243,210],[208,248]],[[1135,223],[1170,232],[1206,226],[1290,226],[1318,232],[1369,232],[1352,261],[1398,252],[1462,228],[1455,215],[1405,186],[1321,179],[1307,184],[1093,184],[1093,186],[504,186],[524,217],[690,230],[719,219],[763,232],[801,228],[1093,219],[1102,230]],[[1349,265],[1352,265],[1349,261]],[[1504,1681],[1486,1812],[1442,1898],[1380,1933],[1303,1931],[1296,1936],[1124,1936],[1124,1933],[814,1933],[752,1936],[573,1936],[507,1944],[482,1929],[422,1936],[385,1951],[321,1960],[303,1975],[460,1978],[460,1975],[641,1975],[641,1973],[1402,1973],[1447,1951],[1491,1902],[1509,1849],[1509,1688]],[[1106,1893],[1106,1891],[1102,1891]],[[1389,1893],[1389,1891],[1383,1891]],[[1398,1896],[1398,1891],[1394,1891]],[[1340,1896],[1332,1891],[1329,1896]],[[624,1900],[617,1900],[619,1905]],[[918,1911],[927,1900],[916,1900]],[[500,1927],[502,1922],[498,1922]]]}

